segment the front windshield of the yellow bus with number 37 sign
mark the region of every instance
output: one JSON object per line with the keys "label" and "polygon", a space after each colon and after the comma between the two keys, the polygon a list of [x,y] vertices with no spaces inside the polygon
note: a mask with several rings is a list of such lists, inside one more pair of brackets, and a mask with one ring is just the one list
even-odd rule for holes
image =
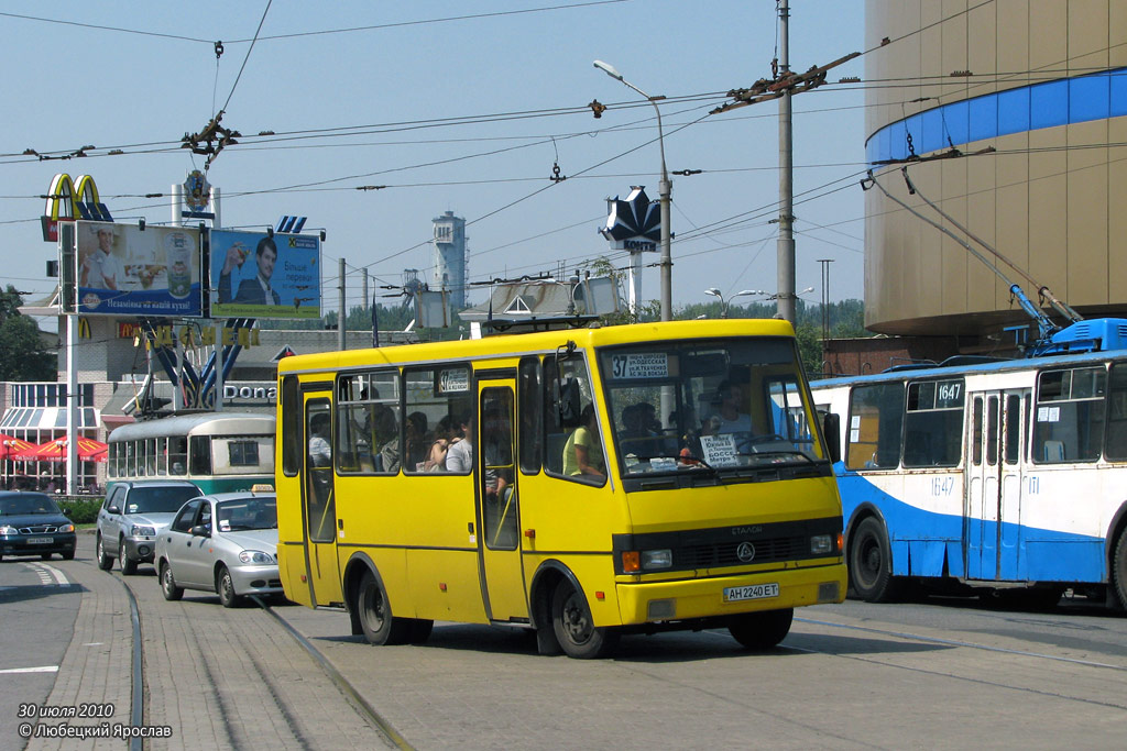
{"label": "front windshield of the yellow bus with number 37 sign", "polygon": [[650,342],[600,358],[625,475],[826,457],[789,339]]}

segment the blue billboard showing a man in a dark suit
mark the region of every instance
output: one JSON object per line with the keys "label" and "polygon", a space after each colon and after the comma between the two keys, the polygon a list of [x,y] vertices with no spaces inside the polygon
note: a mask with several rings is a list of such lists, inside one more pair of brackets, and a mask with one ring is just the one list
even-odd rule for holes
{"label": "blue billboard showing a man in a dark suit", "polygon": [[321,318],[317,235],[211,231],[211,314]]}

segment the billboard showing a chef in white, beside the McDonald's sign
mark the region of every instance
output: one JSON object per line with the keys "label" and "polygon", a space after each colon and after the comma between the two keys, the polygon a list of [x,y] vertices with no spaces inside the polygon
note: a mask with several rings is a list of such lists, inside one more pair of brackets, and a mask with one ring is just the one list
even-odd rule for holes
{"label": "billboard showing a chef in white, beside the McDonald's sign", "polygon": [[77,313],[203,314],[198,229],[79,221],[76,235]]}

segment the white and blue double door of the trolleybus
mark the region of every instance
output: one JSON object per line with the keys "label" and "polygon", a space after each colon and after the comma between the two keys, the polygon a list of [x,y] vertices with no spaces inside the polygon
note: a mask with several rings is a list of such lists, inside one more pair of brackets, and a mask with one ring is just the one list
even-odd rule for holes
{"label": "white and blue double door of the trolleybus", "polygon": [[971,394],[964,534],[967,578],[1020,580],[1021,484],[1029,390]]}

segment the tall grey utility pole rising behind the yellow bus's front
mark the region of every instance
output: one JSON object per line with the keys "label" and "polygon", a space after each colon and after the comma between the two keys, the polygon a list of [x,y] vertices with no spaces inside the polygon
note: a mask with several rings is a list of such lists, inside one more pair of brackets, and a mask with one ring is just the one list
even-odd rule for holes
{"label": "tall grey utility pole rising behind the yellow bus's front", "polygon": [[[779,78],[790,75],[790,2],[779,0]],[[791,90],[779,100],[779,316],[797,321],[795,311],[795,143]]]}

